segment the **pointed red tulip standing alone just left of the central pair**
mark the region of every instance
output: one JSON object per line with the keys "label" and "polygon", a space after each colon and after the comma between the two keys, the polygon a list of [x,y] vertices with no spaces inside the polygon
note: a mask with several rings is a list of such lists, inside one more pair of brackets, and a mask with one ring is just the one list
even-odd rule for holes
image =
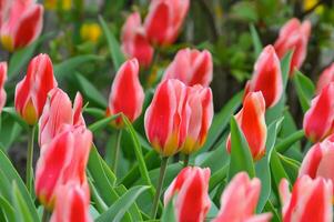
{"label": "pointed red tulip standing alone just left of the central pair", "polygon": [[[136,59],[128,60],[119,69],[109,95],[107,114],[122,112],[131,122],[142,112],[144,91],[139,81],[139,64]],[[117,127],[122,127],[122,119],[115,120]]]}

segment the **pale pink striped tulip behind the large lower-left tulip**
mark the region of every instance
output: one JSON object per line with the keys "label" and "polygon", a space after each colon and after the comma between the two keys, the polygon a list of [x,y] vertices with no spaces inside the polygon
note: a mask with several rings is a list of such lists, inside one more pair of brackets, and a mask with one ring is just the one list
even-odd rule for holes
{"label": "pale pink striped tulip behind the large lower-left tulip", "polygon": [[49,93],[42,115],[39,121],[40,147],[49,143],[63,128],[64,124],[85,125],[82,118],[82,97],[77,93],[74,107],[68,94],[59,88]]}

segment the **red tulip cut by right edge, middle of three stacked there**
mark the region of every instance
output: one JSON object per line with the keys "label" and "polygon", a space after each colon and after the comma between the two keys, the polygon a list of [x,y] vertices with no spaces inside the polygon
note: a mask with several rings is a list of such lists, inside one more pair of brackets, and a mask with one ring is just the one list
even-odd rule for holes
{"label": "red tulip cut by right edge, middle of three stacked there", "polygon": [[305,135],[313,142],[322,141],[333,132],[333,94],[334,83],[330,83],[311,101],[311,108],[304,115]]}

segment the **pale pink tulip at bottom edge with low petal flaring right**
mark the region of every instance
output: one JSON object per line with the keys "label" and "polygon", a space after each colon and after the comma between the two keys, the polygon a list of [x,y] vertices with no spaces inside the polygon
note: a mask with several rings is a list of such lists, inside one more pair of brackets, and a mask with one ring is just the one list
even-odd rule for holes
{"label": "pale pink tulip at bottom edge with low petal flaring right", "polygon": [[221,196],[221,210],[214,222],[257,221],[269,222],[271,213],[254,215],[261,192],[261,181],[240,172],[231,180]]}

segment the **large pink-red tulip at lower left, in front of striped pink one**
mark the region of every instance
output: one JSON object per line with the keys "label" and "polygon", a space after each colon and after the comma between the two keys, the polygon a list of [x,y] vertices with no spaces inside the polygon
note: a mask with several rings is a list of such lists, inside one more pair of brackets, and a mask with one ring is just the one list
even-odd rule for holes
{"label": "large pink-red tulip at lower left, in front of striped pink one", "polygon": [[92,133],[84,127],[65,128],[41,149],[36,170],[36,194],[40,202],[52,209],[57,189],[69,181],[87,182],[88,162]]}

